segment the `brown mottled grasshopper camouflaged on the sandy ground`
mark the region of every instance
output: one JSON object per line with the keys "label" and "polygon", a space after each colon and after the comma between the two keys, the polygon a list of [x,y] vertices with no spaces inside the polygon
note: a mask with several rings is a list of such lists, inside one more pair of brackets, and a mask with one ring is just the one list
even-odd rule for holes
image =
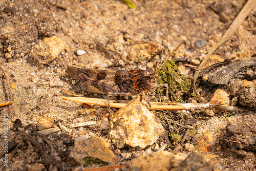
{"label": "brown mottled grasshopper camouflaged on the sandy ground", "polygon": [[98,70],[69,67],[68,76],[80,79],[86,84],[87,91],[106,94],[110,112],[110,96],[130,96],[152,93],[157,87],[166,87],[166,100],[168,100],[168,84],[157,84],[157,73],[170,56],[183,44],[184,41],[166,58],[160,68],[146,70]]}

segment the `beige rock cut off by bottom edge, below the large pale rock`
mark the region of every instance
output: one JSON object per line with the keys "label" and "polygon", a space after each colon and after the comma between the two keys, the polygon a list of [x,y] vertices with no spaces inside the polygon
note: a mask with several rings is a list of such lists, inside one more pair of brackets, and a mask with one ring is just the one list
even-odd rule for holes
{"label": "beige rock cut off by bottom edge, below the large pale rock", "polygon": [[179,167],[185,157],[174,155],[167,151],[156,152],[145,156],[139,156],[131,160],[131,171],[155,171],[155,170],[170,170],[174,167]]}

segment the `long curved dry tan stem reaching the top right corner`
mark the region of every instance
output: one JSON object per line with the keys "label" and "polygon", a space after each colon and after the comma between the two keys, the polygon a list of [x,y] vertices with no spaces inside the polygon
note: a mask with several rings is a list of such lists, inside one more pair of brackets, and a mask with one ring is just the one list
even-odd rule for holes
{"label": "long curved dry tan stem reaching the top right corner", "polygon": [[231,37],[234,34],[234,32],[238,29],[238,27],[244,22],[244,19],[249,15],[249,13],[251,12],[251,10],[255,6],[255,4],[256,4],[256,0],[247,1],[245,6],[243,7],[243,9],[239,12],[237,17],[233,20],[232,24],[229,26],[229,28],[227,29],[225,34],[221,37],[219,42],[217,44],[215,44],[215,46],[211,47],[211,49],[209,50],[209,52],[207,53],[207,55],[201,62],[200,66],[198,67],[197,72],[195,73],[195,75],[193,77],[193,90],[201,102],[206,102],[206,101],[198,94],[198,92],[196,90],[196,85],[195,85],[201,68],[204,66],[205,62],[210,58],[210,55],[212,53],[214,53],[214,51],[217,48],[219,48],[225,41],[227,41],[229,39],[229,37]]}

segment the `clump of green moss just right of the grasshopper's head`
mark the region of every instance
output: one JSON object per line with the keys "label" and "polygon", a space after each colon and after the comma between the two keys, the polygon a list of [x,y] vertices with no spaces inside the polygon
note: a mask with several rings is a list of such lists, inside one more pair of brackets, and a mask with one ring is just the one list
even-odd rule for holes
{"label": "clump of green moss just right of the grasshopper's head", "polygon": [[[191,82],[180,73],[173,60],[166,61],[160,69],[157,82],[168,83],[170,100],[183,103],[183,95],[189,94]],[[160,93],[160,90],[157,90]]]}

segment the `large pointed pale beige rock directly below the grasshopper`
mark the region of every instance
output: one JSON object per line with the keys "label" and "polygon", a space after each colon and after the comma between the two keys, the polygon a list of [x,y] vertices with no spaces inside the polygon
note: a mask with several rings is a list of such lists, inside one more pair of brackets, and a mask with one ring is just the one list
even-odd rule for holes
{"label": "large pointed pale beige rock directly below the grasshopper", "polygon": [[163,133],[161,123],[146,108],[144,100],[142,103],[137,96],[112,117],[110,137],[117,148],[123,148],[125,144],[144,148],[153,145]]}

